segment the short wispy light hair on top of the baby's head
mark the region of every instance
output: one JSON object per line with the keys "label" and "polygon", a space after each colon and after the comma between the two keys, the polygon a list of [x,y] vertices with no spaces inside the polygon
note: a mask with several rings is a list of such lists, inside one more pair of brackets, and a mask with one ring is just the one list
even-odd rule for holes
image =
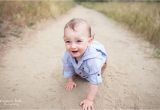
{"label": "short wispy light hair on top of the baby's head", "polygon": [[64,27],[64,29],[66,28],[70,28],[73,31],[76,31],[76,27],[78,27],[79,25],[84,24],[88,30],[88,36],[91,37],[91,26],[87,23],[87,21],[85,21],[82,18],[73,18],[71,19]]}

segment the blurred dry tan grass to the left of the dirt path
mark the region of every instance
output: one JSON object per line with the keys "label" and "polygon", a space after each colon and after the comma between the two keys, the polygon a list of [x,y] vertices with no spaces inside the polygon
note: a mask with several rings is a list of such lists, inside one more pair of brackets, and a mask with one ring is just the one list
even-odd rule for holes
{"label": "blurred dry tan grass to the left of the dirt path", "polygon": [[23,27],[31,27],[44,19],[54,19],[74,5],[72,1],[0,1],[0,38],[19,36]]}

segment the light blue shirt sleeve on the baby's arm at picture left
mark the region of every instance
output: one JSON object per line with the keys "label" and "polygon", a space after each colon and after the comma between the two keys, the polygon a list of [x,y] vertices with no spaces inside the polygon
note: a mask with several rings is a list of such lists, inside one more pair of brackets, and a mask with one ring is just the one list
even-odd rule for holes
{"label": "light blue shirt sleeve on the baby's arm at picture left", "polygon": [[74,68],[69,58],[68,53],[66,52],[63,57],[63,75],[65,78],[69,78],[74,74]]}

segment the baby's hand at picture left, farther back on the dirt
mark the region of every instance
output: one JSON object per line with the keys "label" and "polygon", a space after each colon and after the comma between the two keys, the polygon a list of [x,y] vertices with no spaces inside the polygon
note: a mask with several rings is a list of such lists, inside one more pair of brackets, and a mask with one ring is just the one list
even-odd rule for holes
{"label": "baby's hand at picture left, farther back on the dirt", "polygon": [[72,90],[74,87],[76,87],[76,83],[73,81],[73,77],[67,78],[66,90]]}

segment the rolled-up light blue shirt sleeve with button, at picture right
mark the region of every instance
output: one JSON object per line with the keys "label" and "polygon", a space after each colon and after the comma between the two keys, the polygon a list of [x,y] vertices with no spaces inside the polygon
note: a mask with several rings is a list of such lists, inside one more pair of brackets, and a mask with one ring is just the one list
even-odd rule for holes
{"label": "rolled-up light blue shirt sleeve with button, at picture right", "polygon": [[97,84],[102,83],[102,77],[101,77],[102,61],[98,58],[90,59],[87,62],[87,67],[89,68],[87,80],[91,84],[97,85]]}

